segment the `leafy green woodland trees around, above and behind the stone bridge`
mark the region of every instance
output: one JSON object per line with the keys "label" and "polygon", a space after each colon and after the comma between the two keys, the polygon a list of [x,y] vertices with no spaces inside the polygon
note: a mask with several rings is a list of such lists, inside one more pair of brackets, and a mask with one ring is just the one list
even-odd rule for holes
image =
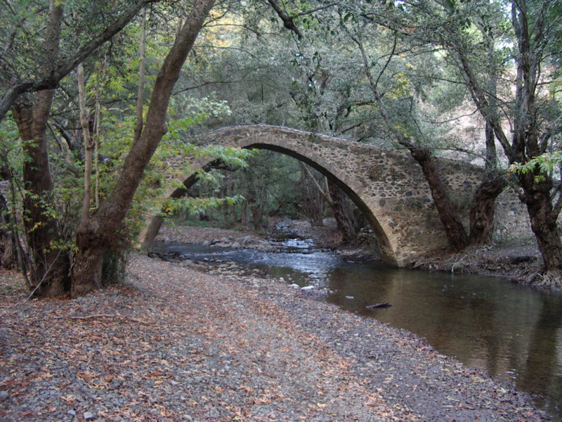
{"label": "leafy green woodland trees around, above and behind the stone bridge", "polygon": [[[353,241],[361,222],[320,174],[197,143],[233,124],[408,151],[452,250],[493,241],[495,198],[514,188],[561,286],[562,1],[5,0],[0,16],[1,263],[33,295],[117,279],[155,207],[256,228],[329,209]],[[222,164],[159,200],[178,154]],[[438,156],[485,167],[469,227]]]}

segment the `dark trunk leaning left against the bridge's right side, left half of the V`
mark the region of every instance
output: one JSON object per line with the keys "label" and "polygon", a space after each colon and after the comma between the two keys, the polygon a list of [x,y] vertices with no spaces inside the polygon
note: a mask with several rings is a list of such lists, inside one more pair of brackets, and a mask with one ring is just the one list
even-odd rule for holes
{"label": "dark trunk leaning left against the bridge's right side, left half of the V", "polygon": [[408,149],[414,160],[421,166],[421,171],[429,184],[431,196],[437,207],[439,218],[445,227],[445,233],[451,248],[457,252],[463,250],[469,244],[469,236],[466,235],[459,215],[455,207],[452,206],[445,184],[439,176],[429,149],[411,145]]}

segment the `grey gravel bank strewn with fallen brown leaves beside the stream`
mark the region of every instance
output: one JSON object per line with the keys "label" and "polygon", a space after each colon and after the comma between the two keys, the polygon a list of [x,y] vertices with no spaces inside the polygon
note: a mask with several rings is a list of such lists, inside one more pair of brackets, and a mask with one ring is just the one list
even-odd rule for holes
{"label": "grey gravel bank strewn with fallen brown leaves beside the stream", "polygon": [[133,256],[25,300],[0,273],[0,421],[545,421],[521,392],[285,283]]}

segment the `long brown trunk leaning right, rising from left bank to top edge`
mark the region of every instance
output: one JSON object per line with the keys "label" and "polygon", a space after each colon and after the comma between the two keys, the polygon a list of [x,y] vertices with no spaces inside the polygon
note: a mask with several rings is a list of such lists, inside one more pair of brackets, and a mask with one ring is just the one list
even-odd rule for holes
{"label": "long brown trunk leaning right, rising from left bank to top edge", "polygon": [[123,228],[133,196],[146,165],[166,133],[166,112],[174,84],[191,51],[214,0],[197,0],[167,54],[156,78],[145,127],[124,162],[111,195],[96,214],[82,222],[77,231],[77,253],[72,266],[72,295],[82,295],[101,286],[103,254]]}

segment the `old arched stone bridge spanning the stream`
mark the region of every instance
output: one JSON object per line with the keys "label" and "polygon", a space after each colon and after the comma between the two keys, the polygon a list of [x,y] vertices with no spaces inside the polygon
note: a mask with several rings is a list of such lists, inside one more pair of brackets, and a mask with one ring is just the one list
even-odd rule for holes
{"label": "old arched stone bridge spanning the stream", "polygon": [[[204,145],[276,151],[311,165],[343,188],[364,213],[377,237],[381,257],[390,264],[406,267],[421,255],[447,246],[429,185],[409,153],[266,125],[226,127],[204,136],[202,141]],[[193,168],[208,170],[217,164],[211,158],[198,160]],[[483,169],[445,159],[438,160],[438,168],[453,203],[467,218],[466,210]],[[195,174],[183,174],[178,179],[185,188],[196,180]],[[169,188],[166,195],[181,196],[185,188]],[[497,205],[500,221],[496,227],[500,234],[514,235],[514,230],[521,229],[520,218],[514,216],[525,213],[513,194],[502,195],[505,198]],[[152,219],[142,235],[145,247],[150,248],[160,224],[161,219]]]}

